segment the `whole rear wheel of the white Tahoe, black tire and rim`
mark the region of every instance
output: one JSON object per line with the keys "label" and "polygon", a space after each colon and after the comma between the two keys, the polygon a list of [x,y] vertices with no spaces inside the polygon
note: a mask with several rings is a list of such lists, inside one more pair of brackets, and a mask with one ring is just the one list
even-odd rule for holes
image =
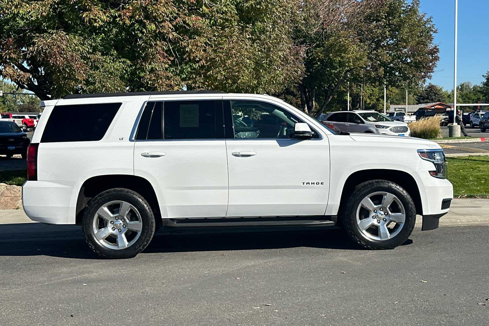
{"label": "whole rear wheel of the white Tahoe, black tire and rim", "polygon": [[[120,213],[121,208],[127,213]],[[148,202],[125,188],[109,189],[92,198],[82,218],[87,244],[105,258],[132,258],[139,254],[153,238],[155,224]]]}

